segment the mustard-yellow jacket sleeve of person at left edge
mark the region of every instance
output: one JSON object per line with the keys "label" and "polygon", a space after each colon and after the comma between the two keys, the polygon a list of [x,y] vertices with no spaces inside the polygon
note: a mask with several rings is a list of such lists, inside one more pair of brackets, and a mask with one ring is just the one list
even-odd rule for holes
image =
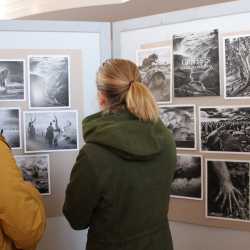
{"label": "mustard-yellow jacket sleeve of person at left edge", "polygon": [[0,227],[17,249],[35,249],[45,229],[39,192],[25,182],[9,148],[0,141]]}

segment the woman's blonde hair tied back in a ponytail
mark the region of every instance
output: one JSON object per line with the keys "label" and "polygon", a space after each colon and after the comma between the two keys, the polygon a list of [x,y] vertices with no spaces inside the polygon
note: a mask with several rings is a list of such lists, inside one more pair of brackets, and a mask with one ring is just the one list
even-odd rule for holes
{"label": "woman's blonde hair tied back in a ponytail", "polygon": [[108,100],[107,109],[126,107],[142,121],[159,119],[154,97],[141,83],[139,69],[133,62],[123,59],[105,61],[97,73],[97,88]]}

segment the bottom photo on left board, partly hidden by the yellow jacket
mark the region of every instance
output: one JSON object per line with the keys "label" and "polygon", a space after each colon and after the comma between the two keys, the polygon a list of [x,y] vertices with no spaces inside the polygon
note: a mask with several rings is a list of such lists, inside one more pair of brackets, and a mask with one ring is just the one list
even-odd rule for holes
{"label": "bottom photo on left board, partly hidden by the yellow jacket", "polygon": [[23,179],[31,182],[42,195],[50,195],[49,155],[16,155]]}

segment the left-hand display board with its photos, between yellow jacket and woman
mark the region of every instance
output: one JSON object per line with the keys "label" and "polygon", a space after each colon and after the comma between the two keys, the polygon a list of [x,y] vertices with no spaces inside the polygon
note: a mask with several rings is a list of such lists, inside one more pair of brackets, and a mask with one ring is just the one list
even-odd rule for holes
{"label": "left-hand display board with its photos, between yellow jacket and woman", "polygon": [[110,24],[1,22],[0,34],[1,129],[48,217],[58,217],[84,144],[81,121],[98,110],[95,73],[110,58]]}

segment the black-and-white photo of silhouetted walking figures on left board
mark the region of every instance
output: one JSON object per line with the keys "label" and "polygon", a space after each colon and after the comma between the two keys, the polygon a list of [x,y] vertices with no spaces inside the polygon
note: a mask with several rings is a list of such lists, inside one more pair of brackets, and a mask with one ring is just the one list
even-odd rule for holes
{"label": "black-and-white photo of silhouetted walking figures on left board", "polygon": [[77,111],[24,112],[25,152],[78,150]]}

